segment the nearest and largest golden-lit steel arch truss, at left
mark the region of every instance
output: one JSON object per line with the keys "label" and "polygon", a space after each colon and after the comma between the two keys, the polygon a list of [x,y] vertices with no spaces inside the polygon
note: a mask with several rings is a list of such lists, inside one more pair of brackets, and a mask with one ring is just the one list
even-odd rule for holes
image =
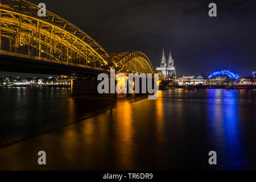
{"label": "nearest and largest golden-lit steel arch truss, at left", "polygon": [[0,33],[10,51],[108,68],[109,54],[73,24],[49,11],[40,18],[39,7],[27,1],[1,2]]}

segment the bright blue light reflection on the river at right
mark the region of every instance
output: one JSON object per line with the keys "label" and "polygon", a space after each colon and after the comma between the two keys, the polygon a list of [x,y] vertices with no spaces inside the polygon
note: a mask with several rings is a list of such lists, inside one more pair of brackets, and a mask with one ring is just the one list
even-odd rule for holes
{"label": "bright blue light reflection on the river at right", "polygon": [[238,90],[211,89],[208,94],[209,135],[212,148],[222,158],[219,163],[223,169],[244,169]]}

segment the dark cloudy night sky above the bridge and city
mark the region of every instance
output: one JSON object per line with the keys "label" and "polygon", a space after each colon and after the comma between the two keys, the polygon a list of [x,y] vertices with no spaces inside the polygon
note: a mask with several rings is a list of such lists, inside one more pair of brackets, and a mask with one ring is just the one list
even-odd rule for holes
{"label": "dark cloudy night sky above the bridge and city", "polygon": [[[75,24],[108,53],[142,51],[154,68],[162,48],[178,76],[232,68],[256,71],[256,1],[32,1]],[[217,4],[217,17],[208,5]],[[11,73],[0,73],[0,76]],[[21,75],[21,74],[19,74]],[[26,75],[27,76],[27,75]]]}

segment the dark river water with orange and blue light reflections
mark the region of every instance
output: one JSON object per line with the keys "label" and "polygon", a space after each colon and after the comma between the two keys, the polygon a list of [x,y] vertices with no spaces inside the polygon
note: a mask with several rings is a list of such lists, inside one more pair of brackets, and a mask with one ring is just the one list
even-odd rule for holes
{"label": "dark river water with orange and blue light reflections", "polygon": [[256,169],[256,90],[171,89],[135,101],[0,88],[0,101],[0,169]]}

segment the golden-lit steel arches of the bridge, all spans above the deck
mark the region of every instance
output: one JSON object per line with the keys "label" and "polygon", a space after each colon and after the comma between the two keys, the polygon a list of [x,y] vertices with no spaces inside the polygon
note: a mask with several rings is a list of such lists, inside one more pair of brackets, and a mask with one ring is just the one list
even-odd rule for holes
{"label": "golden-lit steel arches of the bridge, all spans above the deck", "polygon": [[[60,16],[46,11],[45,17],[39,17],[39,9],[27,1],[1,0],[1,55],[102,72],[115,68],[124,73],[155,73],[144,53],[109,54],[85,32]],[[8,51],[3,51],[2,42],[8,44]],[[163,75],[159,77],[163,78]]]}

